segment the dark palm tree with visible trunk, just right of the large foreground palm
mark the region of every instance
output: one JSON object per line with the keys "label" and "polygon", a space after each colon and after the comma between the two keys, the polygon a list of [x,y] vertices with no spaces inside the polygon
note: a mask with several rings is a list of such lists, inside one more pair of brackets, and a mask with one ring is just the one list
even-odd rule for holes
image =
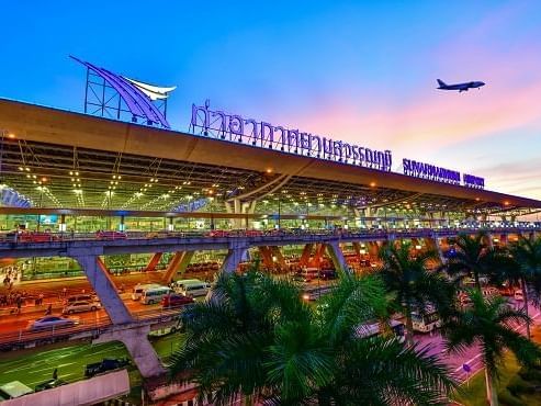
{"label": "dark palm tree with visible trunk, just right of the large foreground palm", "polygon": [[435,305],[440,316],[444,316],[453,306],[454,286],[440,273],[427,270],[429,262],[439,260],[435,250],[413,256],[412,244],[403,243],[398,247],[382,247],[380,258],[383,261],[380,274],[406,317],[407,341],[413,345],[412,313],[422,313],[428,305]]}

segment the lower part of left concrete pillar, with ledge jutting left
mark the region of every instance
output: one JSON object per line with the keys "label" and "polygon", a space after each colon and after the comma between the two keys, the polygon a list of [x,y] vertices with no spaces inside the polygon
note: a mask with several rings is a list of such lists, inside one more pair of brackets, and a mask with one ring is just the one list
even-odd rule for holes
{"label": "lower part of left concrete pillar, with ledge jutting left", "polygon": [[127,352],[137,365],[143,377],[153,377],[165,374],[167,371],[154,347],[148,341],[149,326],[140,326],[128,329],[117,329],[105,332],[93,340],[93,343],[121,341],[126,346]]}

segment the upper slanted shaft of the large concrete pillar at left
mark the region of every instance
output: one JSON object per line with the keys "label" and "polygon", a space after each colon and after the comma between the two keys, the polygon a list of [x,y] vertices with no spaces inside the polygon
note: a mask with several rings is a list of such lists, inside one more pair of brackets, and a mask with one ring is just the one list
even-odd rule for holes
{"label": "upper slanted shaft of the large concrete pillar at left", "polygon": [[100,257],[95,255],[72,256],[81,266],[82,271],[87,275],[90,284],[95,291],[100,302],[113,324],[126,324],[133,322],[132,314],[122,301],[116,286],[109,272],[104,269]]}

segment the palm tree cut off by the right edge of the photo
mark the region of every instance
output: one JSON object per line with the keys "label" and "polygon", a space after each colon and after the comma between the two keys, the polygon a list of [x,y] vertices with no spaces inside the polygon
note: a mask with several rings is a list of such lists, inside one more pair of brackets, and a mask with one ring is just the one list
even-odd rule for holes
{"label": "palm tree cut off by the right edge of the photo", "polygon": [[[529,293],[539,304],[541,297],[541,238],[519,237],[519,240],[510,245],[509,251],[514,264],[508,267],[507,277],[511,282],[518,282],[525,298],[525,314],[528,316]],[[526,326],[530,338],[530,325]]]}

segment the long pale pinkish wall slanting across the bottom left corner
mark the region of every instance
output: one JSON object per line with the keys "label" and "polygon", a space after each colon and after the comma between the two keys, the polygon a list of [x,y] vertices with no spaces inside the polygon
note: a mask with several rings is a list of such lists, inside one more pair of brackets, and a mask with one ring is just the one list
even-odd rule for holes
{"label": "long pale pinkish wall slanting across the bottom left corner", "polygon": [[129,393],[126,370],[0,402],[1,406],[84,406]]}

